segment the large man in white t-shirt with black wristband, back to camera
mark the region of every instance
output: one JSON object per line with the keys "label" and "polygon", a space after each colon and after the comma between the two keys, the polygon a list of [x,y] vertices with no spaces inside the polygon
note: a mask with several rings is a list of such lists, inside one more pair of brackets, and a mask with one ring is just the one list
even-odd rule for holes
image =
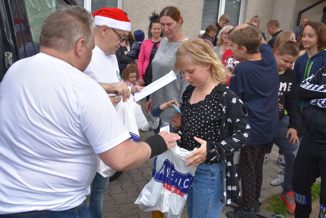
{"label": "large man in white t-shirt with black wristband, back to camera", "polygon": [[[95,46],[93,22],[82,7],[53,12],[42,25],[40,53],[14,63],[0,84],[1,217],[90,217],[83,202],[98,157],[124,171],[180,138],[164,132],[127,140],[106,92],[83,73]],[[104,87],[129,95],[119,84]]]}

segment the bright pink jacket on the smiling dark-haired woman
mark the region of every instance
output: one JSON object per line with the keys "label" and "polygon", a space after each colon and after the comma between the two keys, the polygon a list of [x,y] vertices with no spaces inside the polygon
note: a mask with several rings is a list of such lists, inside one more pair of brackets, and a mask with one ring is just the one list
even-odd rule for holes
{"label": "bright pink jacket on the smiling dark-haired woman", "polygon": [[[151,56],[152,48],[154,43],[152,39],[146,39],[141,43],[141,51],[138,57],[138,71],[139,71],[139,79],[142,79],[143,75],[145,75],[145,71],[149,64],[149,57]],[[157,48],[160,43],[157,44]]]}

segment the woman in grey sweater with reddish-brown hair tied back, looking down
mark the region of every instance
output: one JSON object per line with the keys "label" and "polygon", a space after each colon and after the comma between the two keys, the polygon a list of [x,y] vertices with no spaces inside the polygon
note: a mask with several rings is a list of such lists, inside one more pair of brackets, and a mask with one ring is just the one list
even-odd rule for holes
{"label": "woman in grey sweater with reddish-brown hair tied back, looking down", "polygon": [[[159,18],[161,30],[164,33],[165,38],[161,40],[160,47],[157,49],[152,61],[153,82],[174,69],[174,53],[178,50],[181,42],[187,40],[180,31],[183,19],[178,8],[173,6],[164,8],[160,13]],[[182,93],[185,91],[185,88],[189,83],[184,80],[181,72],[177,73],[179,74],[179,79],[151,94],[151,97],[146,104],[146,111],[150,111],[153,107],[167,101],[176,100],[180,102]],[[164,122],[171,123],[174,114],[174,109],[168,108],[162,112],[161,119]]]}

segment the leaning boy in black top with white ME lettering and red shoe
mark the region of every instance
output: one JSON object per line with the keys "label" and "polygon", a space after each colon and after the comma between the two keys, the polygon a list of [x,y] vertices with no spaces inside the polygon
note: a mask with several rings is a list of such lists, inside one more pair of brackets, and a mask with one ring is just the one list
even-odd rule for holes
{"label": "leaning boy in black top with white ME lettering and red shoe", "polygon": [[[297,87],[294,71],[290,68],[299,56],[299,46],[293,41],[283,42],[275,52],[279,73],[278,98],[282,109],[279,112],[279,123],[276,137],[273,139],[284,153],[285,176],[282,184],[281,200],[290,213],[294,214],[295,201],[292,187],[294,160],[299,147],[297,135]],[[286,113],[285,113],[285,109]],[[273,185],[273,181],[271,182]]]}

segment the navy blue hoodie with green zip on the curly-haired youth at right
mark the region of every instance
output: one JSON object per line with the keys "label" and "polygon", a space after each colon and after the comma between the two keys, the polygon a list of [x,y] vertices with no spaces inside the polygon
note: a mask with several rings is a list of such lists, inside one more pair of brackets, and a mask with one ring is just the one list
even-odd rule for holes
{"label": "navy blue hoodie with green zip on the curly-haired youth at right", "polygon": [[[302,81],[309,76],[315,74],[322,66],[326,64],[326,49],[322,49],[312,57],[308,57],[307,52],[298,57],[294,64],[294,72],[297,80],[297,88],[299,88]],[[298,111],[303,112],[309,105],[309,101],[304,101],[298,97]]]}

